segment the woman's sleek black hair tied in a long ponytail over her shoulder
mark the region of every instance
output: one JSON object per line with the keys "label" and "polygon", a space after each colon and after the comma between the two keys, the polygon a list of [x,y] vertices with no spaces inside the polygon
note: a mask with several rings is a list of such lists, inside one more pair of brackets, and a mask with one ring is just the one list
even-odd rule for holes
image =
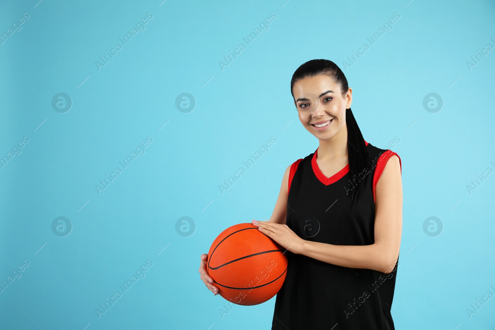
{"label": "woman's sleek black hair tied in a long ponytail over her shoulder", "polygon": [[[347,78],[337,64],[328,59],[312,59],[299,66],[292,75],[292,97],[294,98],[294,84],[296,84],[297,81],[317,75],[327,75],[333,78],[336,84],[340,86],[342,95],[345,96],[347,94],[349,88]],[[295,98],[294,101],[296,101]],[[352,187],[350,203],[354,205],[354,203],[359,201],[359,193],[361,191],[361,180],[357,178],[357,175],[364,170],[368,163],[368,150],[366,149],[363,135],[361,134],[359,126],[357,126],[356,119],[350,108],[346,109],[346,126],[347,157],[349,159],[350,185]]]}

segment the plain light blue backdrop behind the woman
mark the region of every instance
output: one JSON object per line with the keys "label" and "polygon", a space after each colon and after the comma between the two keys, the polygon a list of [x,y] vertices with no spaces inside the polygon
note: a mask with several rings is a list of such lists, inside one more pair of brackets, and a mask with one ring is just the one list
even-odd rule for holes
{"label": "plain light blue backdrop behind the woman", "polygon": [[[199,280],[199,255],[227,227],[269,219],[285,168],[318,146],[290,94],[297,67],[326,58],[344,70],[396,12],[392,31],[344,70],[364,139],[381,148],[400,139],[396,329],[493,329],[495,298],[466,312],[495,293],[495,174],[466,189],[495,170],[495,51],[466,65],[495,46],[492,1],[38,1],[0,5],[0,33],[29,14],[0,46],[0,155],[29,138],[0,169],[0,280],[29,262],[0,293],[2,329],[270,329],[275,298],[222,318],[225,300]],[[98,70],[148,12],[146,29]],[[57,93],[70,95],[70,111],[53,110]],[[175,107],[181,93],[194,95],[192,112]],[[423,108],[428,93],[443,98],[440,112]],[[146,153],[98,194],[148,136]],[[218,186],[271,136],[269,153],[222,195]],[[70,235],[51,231],[59,216]],[[192,236],[175,230],[183,216],[196,223]],[[423,232],[430,216],[443,222],[440,236]],[[147,260],[146,277],[98,318]]]}

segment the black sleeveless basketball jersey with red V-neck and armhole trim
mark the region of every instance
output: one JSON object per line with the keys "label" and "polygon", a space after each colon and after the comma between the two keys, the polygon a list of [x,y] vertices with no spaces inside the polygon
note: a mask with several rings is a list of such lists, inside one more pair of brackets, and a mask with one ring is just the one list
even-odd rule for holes
{"label": "black sleeveless basketball jersey with red V-neck and armhole trim", "polygon": [[[291,166],[286,224],[299,237],[335,245],[374,243],[375,187],[388,159],[397,154],[365,144],[369,164],[354,178],[362,190],[353,207],[348,164],[326,178],[316,163],[316,149]],[[286,254],[287,275],[275,300],[272,330],[395,329],[390,311],[398,258],[386,274]]]}

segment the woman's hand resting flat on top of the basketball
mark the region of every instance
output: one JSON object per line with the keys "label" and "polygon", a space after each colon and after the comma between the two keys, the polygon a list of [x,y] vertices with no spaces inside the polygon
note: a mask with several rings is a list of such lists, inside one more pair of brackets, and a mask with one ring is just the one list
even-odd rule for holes
{"label": "woman's hand resting flat on top of the basketball", "polygon": [[292,253],[300,254],[304,239],[297,236],[287,225],[277,224],[269,221],[252,220],[252,224],[258,227],[258,230],[279,243],[285,249]]}

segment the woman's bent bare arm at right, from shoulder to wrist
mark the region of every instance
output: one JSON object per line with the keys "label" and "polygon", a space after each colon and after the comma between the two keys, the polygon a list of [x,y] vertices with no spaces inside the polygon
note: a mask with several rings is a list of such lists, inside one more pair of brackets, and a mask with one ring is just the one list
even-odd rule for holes
{"label": "woman's bent bare arm at right, from shoulder to wrist", "polygon": [[333,245],[305,240],[299,254],[330,264],[390,273],[396,265],[402,232],[402,181],[397,156],[392,156],[375,188],[375,242]]}

